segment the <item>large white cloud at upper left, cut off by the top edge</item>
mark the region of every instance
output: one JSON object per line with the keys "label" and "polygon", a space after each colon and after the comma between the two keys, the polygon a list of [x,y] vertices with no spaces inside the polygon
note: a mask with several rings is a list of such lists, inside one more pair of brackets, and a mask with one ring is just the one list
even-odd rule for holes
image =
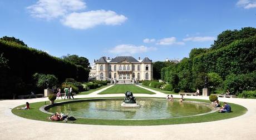
{"label": "large white cloud at upper left, cut off by the top edge", "polygon": [[36,4],[27,7],[32,17],[47,20],[85,8],[86,3],[82,0],[39,0]]}

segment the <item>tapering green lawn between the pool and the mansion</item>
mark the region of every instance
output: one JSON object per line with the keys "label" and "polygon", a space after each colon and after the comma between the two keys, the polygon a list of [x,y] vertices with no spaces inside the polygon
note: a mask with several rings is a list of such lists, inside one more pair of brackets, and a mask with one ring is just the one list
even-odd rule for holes
{"label": "tapering green lawn between the pool and the mansion", "polygon": [[131,91],[132,93],[155,94],[154,92],[147,91],[146,89],[131,84],[117,84],[111,88],[106,89],[105,91],[100,92],[99,94],[116,94],[125,93],[126,91]]}

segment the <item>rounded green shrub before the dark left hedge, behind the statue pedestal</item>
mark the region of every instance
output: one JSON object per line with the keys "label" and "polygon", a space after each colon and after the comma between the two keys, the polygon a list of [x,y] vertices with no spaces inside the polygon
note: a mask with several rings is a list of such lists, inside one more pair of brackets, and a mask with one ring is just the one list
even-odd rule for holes
{"label": "rounded green shrub before the dark left hedge, behind the statue pedestal", "polygon": [[52,74],[35,73],[33,78],[39,88],[51,88],[58,83],[58,78]]}

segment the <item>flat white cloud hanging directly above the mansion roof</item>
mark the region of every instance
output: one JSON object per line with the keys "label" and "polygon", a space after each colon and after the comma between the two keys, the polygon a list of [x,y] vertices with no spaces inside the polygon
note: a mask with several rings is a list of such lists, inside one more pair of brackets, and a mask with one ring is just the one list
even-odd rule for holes
{"label": "flat white cloud hanging directly above the mansion roof", "polygon": [[109,50],[109,53],[113,54],[135,54],[135,53],[146,53],[149,51],[155,51],[155,47],[146,46],[135,46],[132,44],[121,44]]}

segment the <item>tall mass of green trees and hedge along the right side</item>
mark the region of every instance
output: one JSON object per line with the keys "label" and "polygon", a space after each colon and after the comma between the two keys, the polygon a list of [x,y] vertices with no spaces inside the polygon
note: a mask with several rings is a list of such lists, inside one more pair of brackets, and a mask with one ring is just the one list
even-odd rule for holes
{"label": "tall mass of green trees and hedge along the right side", "polygon": [[192,49],[189,58],[162,68],[161,79],[176,90],[194,92],[196,88],[204,88],[204,77],[208,76],[212,93],[230,89],[236,94],[254,90],[255,69],[256,29],[247,27],[224,31],[210,49]]}

